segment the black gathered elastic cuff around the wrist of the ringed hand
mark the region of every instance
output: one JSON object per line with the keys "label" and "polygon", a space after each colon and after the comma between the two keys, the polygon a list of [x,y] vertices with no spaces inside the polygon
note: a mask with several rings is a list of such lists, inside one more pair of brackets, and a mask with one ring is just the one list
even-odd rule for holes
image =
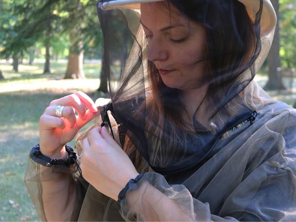
{"label": "black gathered elastic cuff around the wrist of the ringed hand", "polygon": [[44,156],[41,152],[40,152],[40,146],[39,144],[35,145],[32,148],[32,155],[35,157],[34,159],[41,159],[43,161],[36,161],[37,163],[41,163],[44,166],[49,166],[49,165],[72,165],[75,163],[74,160],[77,159],[76,153],[74,152],[74,150],[69,147],[67,144],[65,145],[65,149],[67,151],[67,153],[69,154],[69,157],[66,159],[51,159],[47,156]]}

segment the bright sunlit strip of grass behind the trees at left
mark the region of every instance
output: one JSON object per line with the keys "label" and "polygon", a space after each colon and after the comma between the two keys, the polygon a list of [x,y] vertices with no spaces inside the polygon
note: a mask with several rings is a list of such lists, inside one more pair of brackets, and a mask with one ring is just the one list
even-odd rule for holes
{"label": "bright sunlit strip of grass behind the trees at left", "polygon": [[5,80],[0,82],[0,93],[16,91],[53,90],[63,93],[68,90],[96,91],[99,88],[100,64],[85,64],[86,79],[63,79],[66,63],[52,63],[50,74],[42,74],[43,64],[19,65],[19,72],[12,70],[10,64],[0,64]]}

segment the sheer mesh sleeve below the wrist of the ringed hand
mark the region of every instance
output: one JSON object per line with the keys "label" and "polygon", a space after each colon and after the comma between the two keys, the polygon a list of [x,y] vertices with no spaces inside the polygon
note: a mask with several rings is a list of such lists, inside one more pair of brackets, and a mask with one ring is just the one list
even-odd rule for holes
{"label": "sheer mesh sleeve below the wrist of the ringed hand", "polygon": [[[44,166],[35,162],[30,153],[25,173],[25,185],[42,221],[48,221],[47,217],[49,214],[52,215],[52,212],[59,221],[77,221],[88,184],[75,172],[74,165],[70,167],[65,165]],[[63,183],[62,195],[50,193],[50,197],[45,197],[45,199],[51,201],[44,202],[44,189],[50,190],[52,186],[59,186],[60,182]],[[69,204],[70,202],[72,204]],[[59,207],[59,205],[61,206]]]}

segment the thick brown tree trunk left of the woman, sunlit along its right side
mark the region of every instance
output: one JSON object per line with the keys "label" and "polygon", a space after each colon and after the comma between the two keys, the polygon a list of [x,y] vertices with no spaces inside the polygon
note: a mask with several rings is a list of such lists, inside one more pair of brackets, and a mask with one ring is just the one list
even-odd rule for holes
{"label": "thick brown tree trunk left of the woman, sunlit along its right side", "polygon": [[65,79],[85,79],[83,72],[83,43],[75,41],[74,33],[70,33],[72,46],[68,58]]}

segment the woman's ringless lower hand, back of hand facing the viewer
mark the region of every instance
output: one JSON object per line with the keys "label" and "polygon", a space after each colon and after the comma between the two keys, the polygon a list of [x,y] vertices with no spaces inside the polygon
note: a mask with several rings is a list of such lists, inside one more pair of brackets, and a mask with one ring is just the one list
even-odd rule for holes
{"label": "woman's ringless lower hand, back of hand facing the viewer", "polygon": [[103,127],[92,129],[82,142],[82,176],[99,192],[118,200],[119,192],[139,175],[121,147]]}

